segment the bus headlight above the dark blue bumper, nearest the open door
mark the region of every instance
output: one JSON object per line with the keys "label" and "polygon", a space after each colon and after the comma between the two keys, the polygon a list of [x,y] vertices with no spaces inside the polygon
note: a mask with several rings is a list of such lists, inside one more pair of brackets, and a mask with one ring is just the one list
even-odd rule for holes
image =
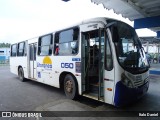
{"label": "bus headlight above the dark blue bumper, nearest the open door", "polygon": [[127,86],[127,87],[129,87],[129,88],[133,88],[133,83],[132,83],[132,81],[131,81],[129,78],[127,78],[124,73],[122,73],[122,75],[121,75],[121,80],[122,80],[122,83],[123,83],[125,86]]}

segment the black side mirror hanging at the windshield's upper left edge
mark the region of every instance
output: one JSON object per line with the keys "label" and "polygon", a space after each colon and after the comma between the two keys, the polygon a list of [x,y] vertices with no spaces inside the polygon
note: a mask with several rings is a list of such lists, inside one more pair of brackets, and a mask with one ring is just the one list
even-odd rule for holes
{"label": "black side mirror hanging at the windshield's upper left edge", "polygon": [[111,27],[111,33],[112,33],[112,40],[113,40],[113,42],[118,42],[118,40],[119,40],[119,33],[118,33],[117,26],[113,25]]}

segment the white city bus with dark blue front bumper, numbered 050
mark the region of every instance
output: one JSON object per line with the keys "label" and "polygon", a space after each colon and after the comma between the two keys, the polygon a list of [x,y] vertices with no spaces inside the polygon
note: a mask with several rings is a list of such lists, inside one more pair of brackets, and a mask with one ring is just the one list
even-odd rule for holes
{"label": "white city bus with dark blue front bumper, numbered 050", "polygon": [[114,106],[141,98],[149,65],[135,30],[109,18],[94,18],[11,45],[10,70],[30,79]]}

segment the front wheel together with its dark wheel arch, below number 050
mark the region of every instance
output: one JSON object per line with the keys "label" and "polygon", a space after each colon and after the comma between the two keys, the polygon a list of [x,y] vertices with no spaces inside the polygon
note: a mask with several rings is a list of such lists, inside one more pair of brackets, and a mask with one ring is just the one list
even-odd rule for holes
{"label": "front wheel together with its dark wheel arch, below number 050", "polygon": [[76,99],[78,96],[78,82],[70,72],[63,72],[60,75],[60,87],[63,88],[67,98]]}

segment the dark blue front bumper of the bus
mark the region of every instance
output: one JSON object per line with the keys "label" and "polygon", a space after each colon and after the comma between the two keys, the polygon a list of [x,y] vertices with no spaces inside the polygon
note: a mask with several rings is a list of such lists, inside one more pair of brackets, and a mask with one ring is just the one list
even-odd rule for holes
{"label": "dark blue front bumper of the bus", "polygon": [[128,88],[121,81],[116,84],[116,91],[114,97],[115,106],[125,106],[131,104],[141,98],[149,88],[149,82],[138,88]]}

